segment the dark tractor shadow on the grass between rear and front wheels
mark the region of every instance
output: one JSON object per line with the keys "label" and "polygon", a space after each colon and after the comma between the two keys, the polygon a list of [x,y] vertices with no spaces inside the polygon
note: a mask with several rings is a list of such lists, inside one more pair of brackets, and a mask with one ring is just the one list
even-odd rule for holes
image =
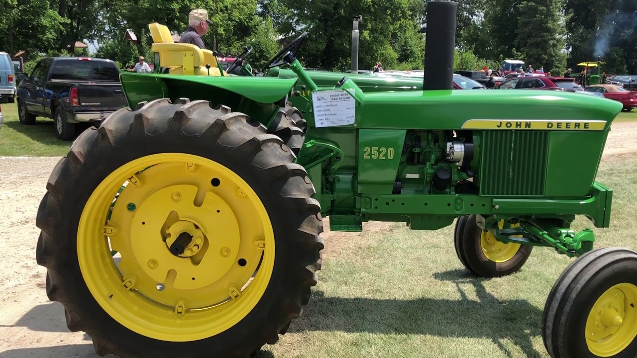
{"label": "dark tractor shadow on the grass between rear and front wheels", "polygon": [[[413,300],[326,297],[313,291],[310,304],[289,332],[342,331],[348,333],[429,334],[442,337],[489,338],[513,357],[503,344],[511,341],[526,357],[541,357],[531,337],[541,335],[542,311],[526,300],[499,300],[482,284],[487,280],[462,269],[434,273],[440,281],[453,282],[461,299]],[[464,287],[461,287],[461,284]],[[478,300],[470,299],[473,285]]]}

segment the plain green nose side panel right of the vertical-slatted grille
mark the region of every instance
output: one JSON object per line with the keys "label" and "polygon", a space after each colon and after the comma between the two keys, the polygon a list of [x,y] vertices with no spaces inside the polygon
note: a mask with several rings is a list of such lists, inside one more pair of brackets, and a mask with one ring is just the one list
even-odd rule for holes
{"label": "plain green nose side panel right of the vertical-slatted grille", "polygon": [[[590,192],[608,132],[551,132],[546,196],[582,197]],[[564,163],[564,159],[570,159]]]}

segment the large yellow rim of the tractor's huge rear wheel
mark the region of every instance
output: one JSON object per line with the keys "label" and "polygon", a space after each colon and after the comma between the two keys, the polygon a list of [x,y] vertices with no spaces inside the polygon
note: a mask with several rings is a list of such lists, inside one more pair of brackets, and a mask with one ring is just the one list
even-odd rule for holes
{"label": "large yellow rim of the tractor's huge rear wheel", "polygon": [[173,153],[108,175],[82,211],[77,249],[104,311],[165,341],[233,327],[261,299],[275,260],[273,229],[254,190],[217,162]]}

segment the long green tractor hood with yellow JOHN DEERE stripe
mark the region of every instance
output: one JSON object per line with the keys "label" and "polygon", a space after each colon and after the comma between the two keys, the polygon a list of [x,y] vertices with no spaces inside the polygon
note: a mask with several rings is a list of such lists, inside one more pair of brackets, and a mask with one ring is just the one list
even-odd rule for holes
{"label": "long green tractor hood with yellow JOHN DEERE stripe", "polygon": [[621,110],[618,101],[576,92],[411,90],[365,94],[357,117],[359,127],[376,129],[608,130]]}

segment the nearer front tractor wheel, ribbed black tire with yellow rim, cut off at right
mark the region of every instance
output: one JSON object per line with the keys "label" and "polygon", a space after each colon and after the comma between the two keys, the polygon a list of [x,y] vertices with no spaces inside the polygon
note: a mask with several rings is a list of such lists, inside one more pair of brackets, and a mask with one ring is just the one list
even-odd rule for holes
{"label": "nearer front tractor wheel, ribbed black tire with yellow rim, cut off at right", "polygon": [[544,307],[553,358],[637,357],[637,253],[598,248],[562,272]]}

